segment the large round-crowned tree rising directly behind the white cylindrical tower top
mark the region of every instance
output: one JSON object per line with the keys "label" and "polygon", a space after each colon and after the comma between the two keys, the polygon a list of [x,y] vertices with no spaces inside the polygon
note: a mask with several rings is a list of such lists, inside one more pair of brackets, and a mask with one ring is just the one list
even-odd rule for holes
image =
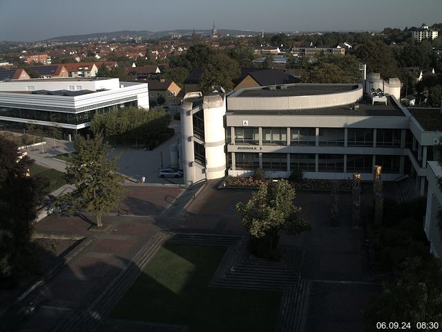
{"label": "large round-crowned tree rising directly behind the white cylindrical tower top", "polygon": [[204,93],[211,92],[212,86],[222,86],[226,91],[233,89],[233,80],[240,75],[236,60],[224,53],[216,53],[204,66],[200,77],[200,88]]}

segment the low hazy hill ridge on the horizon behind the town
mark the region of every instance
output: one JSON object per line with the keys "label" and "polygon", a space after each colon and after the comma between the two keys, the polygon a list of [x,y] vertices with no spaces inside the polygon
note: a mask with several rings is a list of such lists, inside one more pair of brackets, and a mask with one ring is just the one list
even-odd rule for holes
{"label": "low hazy hill ridge on the horizon behind the town", "polygon": [[[193,30],[165,30],[165,31],[115,31],[113,33],[90,33],[88,35],[70,35],[70,36],[60,36],[52,37],[49,39],[42,40],[41,42],[81,42],[90,39],[128,39],[128,37],[141,37],[141,38],[161,38],[169,35],[191,35]],[[195,33],[202,35],[210,35],[211,30],[195,30]],[[218,29],[218,33],[222,35],[257,35],[258,31],[246,31],[246,30],[228,30],[228,29]]]}

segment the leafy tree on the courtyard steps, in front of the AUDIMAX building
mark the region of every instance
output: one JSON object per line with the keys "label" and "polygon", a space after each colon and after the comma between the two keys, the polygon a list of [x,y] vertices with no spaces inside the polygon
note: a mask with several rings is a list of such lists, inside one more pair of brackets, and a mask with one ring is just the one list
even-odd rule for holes
{"label": "leafy tree on the courtyard steps, in front of the AUDIMAX building", "polygon": [[301,208],[294,205],[296,193],[288,181],[265,183],[253,192],[246,203],[238,203],[242,225],[251,235],[249,248],[258,256],[278,257],[280,232],[299,234],[311,225],[300,216]]}

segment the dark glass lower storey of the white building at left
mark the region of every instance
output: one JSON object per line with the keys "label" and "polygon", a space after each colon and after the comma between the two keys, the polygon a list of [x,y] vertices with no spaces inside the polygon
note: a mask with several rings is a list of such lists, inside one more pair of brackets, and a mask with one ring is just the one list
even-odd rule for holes
{"label": "dark glass lower storey of the white building at left", "polygon": [[16,109],[12,107],[0,107],[0,116],[8,118],[20,118],[35,121],[57,122],[64,124],[83,124],[91,122],[96,114],[108,113],[123,109],[124,107],[137,106],[137,102],[125,102],[124,104],[117,104],[108,107],[101,107],[99,109],[92,109],[90,111],[78,113],[64,113],[56,111],[39,111],[36,109]]}

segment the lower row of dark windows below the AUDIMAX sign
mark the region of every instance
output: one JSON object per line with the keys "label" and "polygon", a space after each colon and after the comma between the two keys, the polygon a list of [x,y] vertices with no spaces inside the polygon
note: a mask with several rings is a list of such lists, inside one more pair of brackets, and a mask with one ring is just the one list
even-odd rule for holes
{"label": "lower row of dark windows below the AUDIMAX sign", "polygon": [[[266,171],[287,172],[287,154],[262,154],[262,169]],[[290,169],[302,172],[315,172],[315,154],[289,154]],[[376,156],[376,165],[382,166],[383,173],[399,172],[400,156]],[[343,154],[318,154],[319,172],[344,172]],[[372,155],[347,154],[347,173],[371,173],[373,169]],[[257,169],[260,167],[259,154],[236,153],[236,169]]]}

